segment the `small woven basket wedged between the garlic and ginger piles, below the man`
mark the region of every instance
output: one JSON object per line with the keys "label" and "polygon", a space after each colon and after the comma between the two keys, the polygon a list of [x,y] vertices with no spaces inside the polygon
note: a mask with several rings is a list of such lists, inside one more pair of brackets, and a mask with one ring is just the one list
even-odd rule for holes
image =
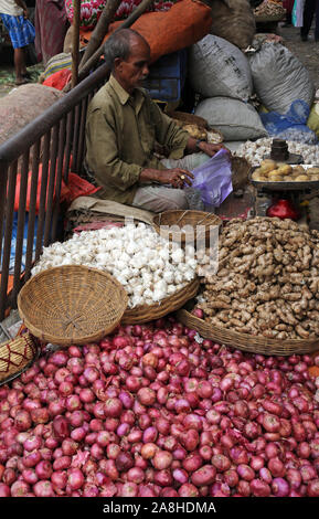
{"label": "small woven basket wedged between the garlic and ginger piles, below the man", "polygon": [[[211,227],[222,225],[222,220],[212,213],[192,210],[171,210],[159,213],[153,218],[153,229],[163,239],[178,242],[181,245],[191,243],[195,245],[196,240],[205,236],[209,241]],[[181,231],[164,229],[178,226]],[[189,230],[187,229],[189,227]],[[183,227],[184,231],[183,231]],[[199,227],[196,230],[196,227]]]}

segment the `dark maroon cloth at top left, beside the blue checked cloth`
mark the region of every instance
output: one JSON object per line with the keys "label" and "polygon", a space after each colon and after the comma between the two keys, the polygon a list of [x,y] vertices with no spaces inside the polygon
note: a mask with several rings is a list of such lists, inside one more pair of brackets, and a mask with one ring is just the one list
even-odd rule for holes
{"label": "dark maroon cloth at top left, beside the blue checked cloth", "polygon": [[63,52],[70,27],[64,0],[36,0],[34,24],[36,56],[46,64],[50,57]]}

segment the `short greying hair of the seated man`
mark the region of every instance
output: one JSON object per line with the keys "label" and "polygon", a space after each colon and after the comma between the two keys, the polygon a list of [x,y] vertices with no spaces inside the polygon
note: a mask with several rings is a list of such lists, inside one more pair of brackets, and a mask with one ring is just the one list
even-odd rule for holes
{"label": "short greying hair of the seated man", "polygon": [[127,60],[130,53],[132,38],[140,38],[149,46],[146,39],[132,29],[121,29],[111,34],[104,44],[104,60],[110,71],[114,70],[114,60],[120,57]]}

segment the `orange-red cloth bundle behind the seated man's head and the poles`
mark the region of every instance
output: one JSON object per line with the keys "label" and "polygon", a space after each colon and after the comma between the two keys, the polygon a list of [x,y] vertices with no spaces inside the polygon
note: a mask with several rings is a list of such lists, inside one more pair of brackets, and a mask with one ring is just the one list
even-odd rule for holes
{"label": "orange-red cloth bundle behind the seated man's head and the poles", "polygon": [[[178,21],[178,22],[177,22]],[[123,21],[109,25],[107,38]],[[151,63],[166,54],[181,51],[202,40],[212,25],[212,10],[196,0],[181,0],[166,12],[147,12],[131,25],[141,34],[151,51]],[[79,31],[81,43],[86,44],[92,32]]]}

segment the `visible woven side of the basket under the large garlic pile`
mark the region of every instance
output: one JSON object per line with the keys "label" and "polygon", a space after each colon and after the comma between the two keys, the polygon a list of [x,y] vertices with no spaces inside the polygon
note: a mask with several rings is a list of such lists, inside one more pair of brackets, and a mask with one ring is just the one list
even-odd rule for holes
{"label": "visible woven side of the basket under the large garlic pile", "polygon": [[195,297],[199,292],[199,279],[194,278],[181,290],[176,292],[170,297],[166,297],[155,305],[142,305],[128,309],[123,316],[121,324],[139,325],[141,322],[149,322],[151,320],[159,319],[160,317],[164,317],[184,306],[189,299]]}

